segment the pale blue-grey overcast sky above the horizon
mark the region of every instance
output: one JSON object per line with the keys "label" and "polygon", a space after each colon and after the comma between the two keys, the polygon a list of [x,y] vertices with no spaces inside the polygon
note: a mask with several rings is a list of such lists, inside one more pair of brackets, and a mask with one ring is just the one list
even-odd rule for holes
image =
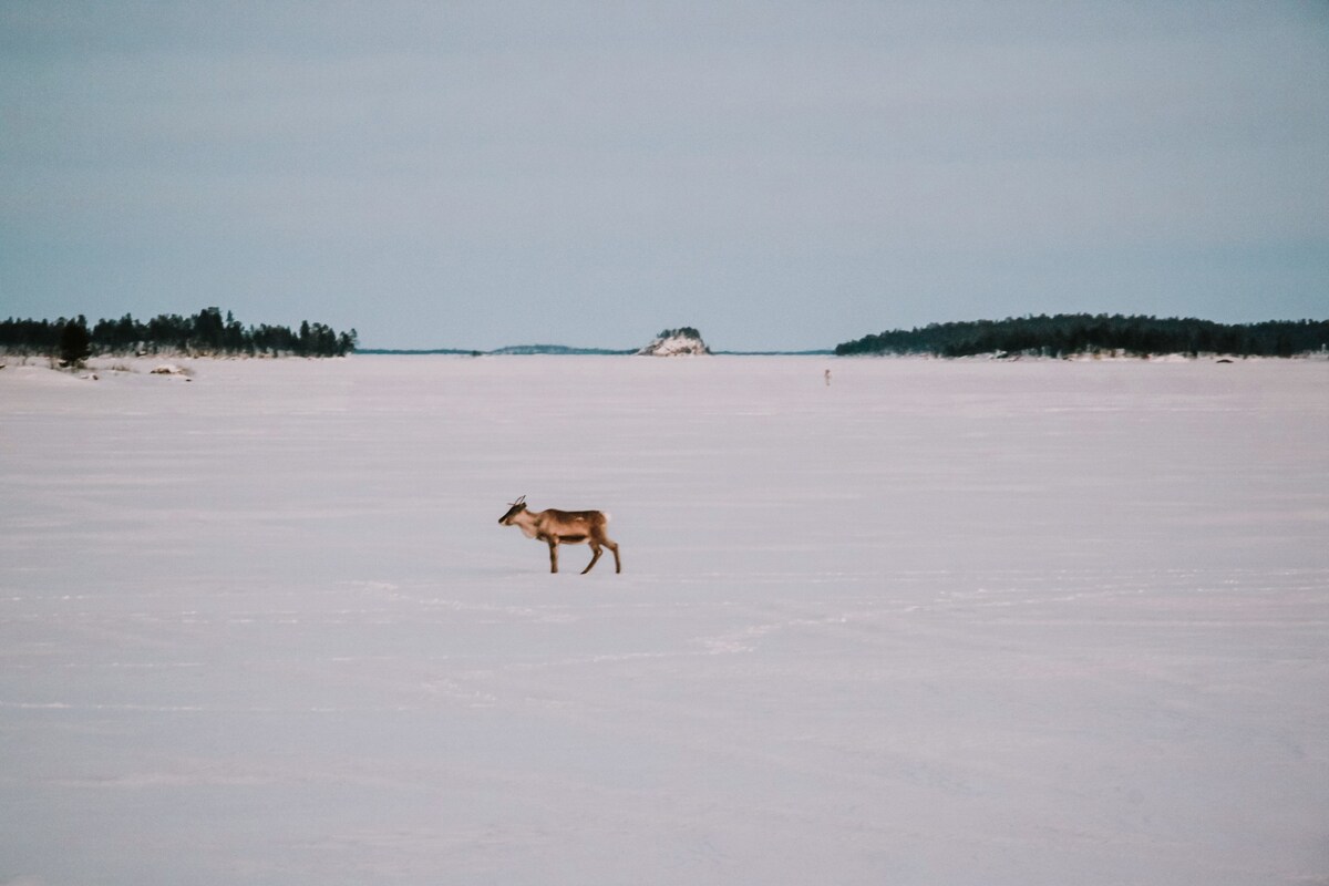
{"label": "pale blue-grey overcast sky above the horizon", "polygon": [[1329,3],[0,0],[0,316],[1329,317]]}

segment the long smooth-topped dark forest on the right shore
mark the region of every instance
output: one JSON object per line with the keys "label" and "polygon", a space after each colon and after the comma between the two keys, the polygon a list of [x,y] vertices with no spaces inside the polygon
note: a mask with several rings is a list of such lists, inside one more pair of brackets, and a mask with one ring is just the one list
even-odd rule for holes
{"label": "long smooth-topped dark forest on the right shore", "polygon": [[1292,357],[1329,345],[1329,320],[1213,323],[1120,313],[1058,313],[1005,320],[932,323],[893,329],[836,345],[841,356],[917,353],[964,357],[977,353],[1023,353],[1062,357],[1086,353],[1223,353]]}

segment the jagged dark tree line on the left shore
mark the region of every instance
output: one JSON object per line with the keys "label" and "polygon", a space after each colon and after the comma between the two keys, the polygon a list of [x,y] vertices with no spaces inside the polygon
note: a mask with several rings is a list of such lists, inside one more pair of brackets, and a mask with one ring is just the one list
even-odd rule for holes
{"label": "jagged dark tree line on the left shore", "polygon": [[21,355],[51,355],[78,363],[93,353],[193,353],[199,356],[342,357],[356,345],[356,331],[338,332],[323,323],[242,325],[230,311],[203,308],[194,316],[163,313],[146,323],[125,315],[89,327],[84,316],[58,320],[0,321],[0,349]]}

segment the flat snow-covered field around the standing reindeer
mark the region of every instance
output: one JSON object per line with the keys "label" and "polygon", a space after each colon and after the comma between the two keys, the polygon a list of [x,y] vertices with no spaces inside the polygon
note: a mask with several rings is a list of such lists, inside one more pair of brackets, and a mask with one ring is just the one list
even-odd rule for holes
{"label": "flat snow-covered field around the standing reindeer", "polygon": [[1329,882],[1329,361],[113,363],[0,371],[0,883]]}

